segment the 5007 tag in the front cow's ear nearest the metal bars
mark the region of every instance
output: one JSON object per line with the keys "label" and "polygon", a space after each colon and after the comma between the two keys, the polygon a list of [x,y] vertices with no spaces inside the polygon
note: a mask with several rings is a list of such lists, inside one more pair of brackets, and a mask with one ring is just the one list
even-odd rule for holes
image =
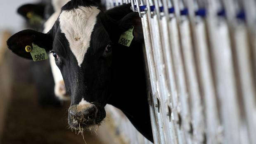
{"label": "5007 tag in the front cow's ear nearest the metal bars", "polygon": [[133,29],[134,29],[134,26],[131,26],[129,30],[122,33],[118,43],[123,44],[124,46],[130,46],[130,43],[133,40]]}

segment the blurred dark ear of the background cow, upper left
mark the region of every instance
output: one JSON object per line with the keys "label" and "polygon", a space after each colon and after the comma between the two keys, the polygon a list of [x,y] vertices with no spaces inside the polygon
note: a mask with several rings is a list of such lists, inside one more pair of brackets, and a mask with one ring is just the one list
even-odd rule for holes
{"label": "blurred dark ear of the background cow, upper left", "polygon": [[22,5],[18,8],[17,12],[27,20],[31,19],[31,17],[34,15],[40,16],[40,18],[43,19],[45,13],[45,4],[39,3]]}

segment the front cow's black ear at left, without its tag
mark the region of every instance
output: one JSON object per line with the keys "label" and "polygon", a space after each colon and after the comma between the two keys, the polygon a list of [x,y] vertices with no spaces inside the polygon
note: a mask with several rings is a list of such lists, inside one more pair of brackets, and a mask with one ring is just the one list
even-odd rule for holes
{"label": "front cow's black ear at left, without its tag", "polygon": [[29,45],[33,49],[32,43],[45,49],[46,52],[52,50],[51,36],[35,30],[22,30],[7,40],[7,46],[13,53],[28,59],[32,59],[32,56],[25,48]]}

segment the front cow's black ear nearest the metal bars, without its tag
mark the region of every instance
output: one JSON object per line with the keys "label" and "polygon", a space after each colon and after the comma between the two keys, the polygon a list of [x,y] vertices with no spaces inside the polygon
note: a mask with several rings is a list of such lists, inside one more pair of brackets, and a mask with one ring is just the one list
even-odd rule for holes
{"label": "front cow's black ear nearest the metal bars, without its tag", "polygon": [[123,33],[131,28],[133,29],[134,42],[142,42],[143,41],[143,30],[141,24],[141,18],[137,12],[130,12],[126,14],[121,20],[118,22],[119,30]]}

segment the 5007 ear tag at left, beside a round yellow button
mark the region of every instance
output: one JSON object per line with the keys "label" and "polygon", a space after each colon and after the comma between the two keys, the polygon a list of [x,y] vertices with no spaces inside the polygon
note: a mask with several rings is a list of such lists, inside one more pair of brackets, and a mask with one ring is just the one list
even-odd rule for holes
{"label": "5007 ear tag at left, beside a round yellow button", "polygon": [[46,60],[48,59],[48,55],[45,49],[40,48],[38,45],[32,43],[33,49],[30,52],[34,61]]}

